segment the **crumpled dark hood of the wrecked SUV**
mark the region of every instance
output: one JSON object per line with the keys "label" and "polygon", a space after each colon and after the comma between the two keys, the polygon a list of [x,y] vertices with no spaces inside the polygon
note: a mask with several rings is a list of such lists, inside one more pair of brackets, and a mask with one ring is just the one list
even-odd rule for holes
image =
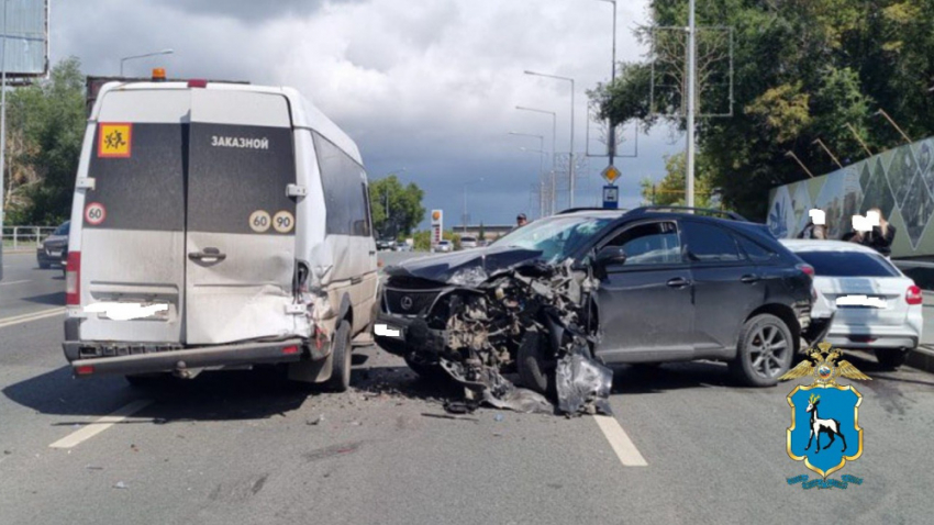
{"label": "crumpled dark hood of the wrecked SUV", "polygon": [[516,246],[489,246],[407,260],[386,269],[389,277],[418,277],[457,286],[477,286],[489,276],[541,257]]}

